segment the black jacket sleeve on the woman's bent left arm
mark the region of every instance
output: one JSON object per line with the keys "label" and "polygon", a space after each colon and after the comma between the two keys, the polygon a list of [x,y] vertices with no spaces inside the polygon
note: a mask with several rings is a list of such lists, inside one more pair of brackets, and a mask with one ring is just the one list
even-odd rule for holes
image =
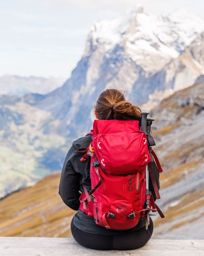
{"label": "black jacket sleeve on the woman's bent left arm", "polygon": [[71,164],[71,158],[76,149],[73,146],[69,149],[65,158],[59,184],[59,195],[63,202],[71,209],[78,211],[79,202],[79,180],[80,173],[76,172]]}

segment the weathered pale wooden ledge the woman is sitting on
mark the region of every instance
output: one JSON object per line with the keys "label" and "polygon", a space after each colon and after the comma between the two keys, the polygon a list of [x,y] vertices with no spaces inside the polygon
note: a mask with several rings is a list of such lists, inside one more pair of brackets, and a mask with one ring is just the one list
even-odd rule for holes
{"label": "weathered pale wooden ledge the woman is sitting on", "polygon": [[129,251],[97,251],[73,238],[0,236],[1,256],[204,256],[204,240],[153,240]]}

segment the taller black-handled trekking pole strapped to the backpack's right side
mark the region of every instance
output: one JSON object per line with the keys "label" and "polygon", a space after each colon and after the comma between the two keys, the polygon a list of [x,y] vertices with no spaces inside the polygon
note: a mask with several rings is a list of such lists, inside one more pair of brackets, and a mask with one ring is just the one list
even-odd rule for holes
{"label": "taller black-handled trekking pole strapped to the backpack's right side", "polygon": [[[142,112],[141,113],[141,131],[143,131],[148,139],[148,132],[150,132],[150,130],[148,130],[147,132],[147,116],[149,115],[149,112]],[[148,129],[149,129],[149,125],[148,125]],[[146,165],[146,171],[145,171],[145,185],[146,185],[146,195],[150,195],[149,193],[149,170],[148,170],[148,165]],[[146,208],[149,207],[149,199],[146,200]],[[147,213],[147,218],[146,218],[146,223],[145,223],[145,227],[146,229],[148,229],[148,225],[149,225],[149,211],[146,211]]]}

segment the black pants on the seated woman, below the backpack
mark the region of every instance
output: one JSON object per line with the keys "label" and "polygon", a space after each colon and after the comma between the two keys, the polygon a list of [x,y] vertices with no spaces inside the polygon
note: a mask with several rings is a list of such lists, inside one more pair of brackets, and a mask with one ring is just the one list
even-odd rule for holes
{"label": "black pants on the seated woman, below the backpack", "polygon": [[71,221],[71,233],[74,239],[87,248],[96,250],[132,250],[145,245],[153,232],[153,222],[150,218],[148,229],[145,227],[123,235],[106,236],[86,233],[76,228]]}

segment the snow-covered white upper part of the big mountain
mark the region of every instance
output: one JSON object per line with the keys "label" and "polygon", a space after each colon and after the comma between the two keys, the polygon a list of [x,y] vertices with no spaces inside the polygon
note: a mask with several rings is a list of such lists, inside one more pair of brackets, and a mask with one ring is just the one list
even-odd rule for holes
{"label": "snow-covered white upper part of the big mountain", "polygon": [[136,64],[154,72],[177,58],[203,30],[204,20],[192,12],[175,10],[164,17],[139,5],[121,17],[94,22],[84,56],[96,49],[101,54],[111,53],[120,45]]}

